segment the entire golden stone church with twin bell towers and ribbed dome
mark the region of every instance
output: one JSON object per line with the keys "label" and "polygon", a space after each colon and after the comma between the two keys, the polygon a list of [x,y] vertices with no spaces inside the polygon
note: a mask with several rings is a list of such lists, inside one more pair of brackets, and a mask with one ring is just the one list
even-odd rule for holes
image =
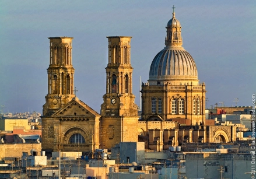
{"label": "entire golden stone church with twin bell towers and ribbed dome", "polygon": [[100,114],[76,97],[72,37],[49,37],[48,93],[42,119],[42,148],[46,152],[111,149],[120,142],[145,142],[151,150],[183,143],[236,141],[236,127],[206,119],[206,87],[197,66],[182,47],[181,24],[175,12],[166,26],[166,47],[142,83],[141,116],[132,93],[131,38],[108,38],[106,93]]}

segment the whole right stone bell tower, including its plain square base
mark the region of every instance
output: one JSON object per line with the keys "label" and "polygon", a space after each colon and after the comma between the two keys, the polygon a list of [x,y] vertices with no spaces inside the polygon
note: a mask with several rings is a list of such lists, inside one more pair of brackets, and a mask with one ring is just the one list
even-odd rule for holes
{"label": "whole right stone bell tower, including its plain square base", "polygon": [[101,147],[138,141],[138,106],[132,94],[131,38],[108,38],[106,94],[101,104]]}

